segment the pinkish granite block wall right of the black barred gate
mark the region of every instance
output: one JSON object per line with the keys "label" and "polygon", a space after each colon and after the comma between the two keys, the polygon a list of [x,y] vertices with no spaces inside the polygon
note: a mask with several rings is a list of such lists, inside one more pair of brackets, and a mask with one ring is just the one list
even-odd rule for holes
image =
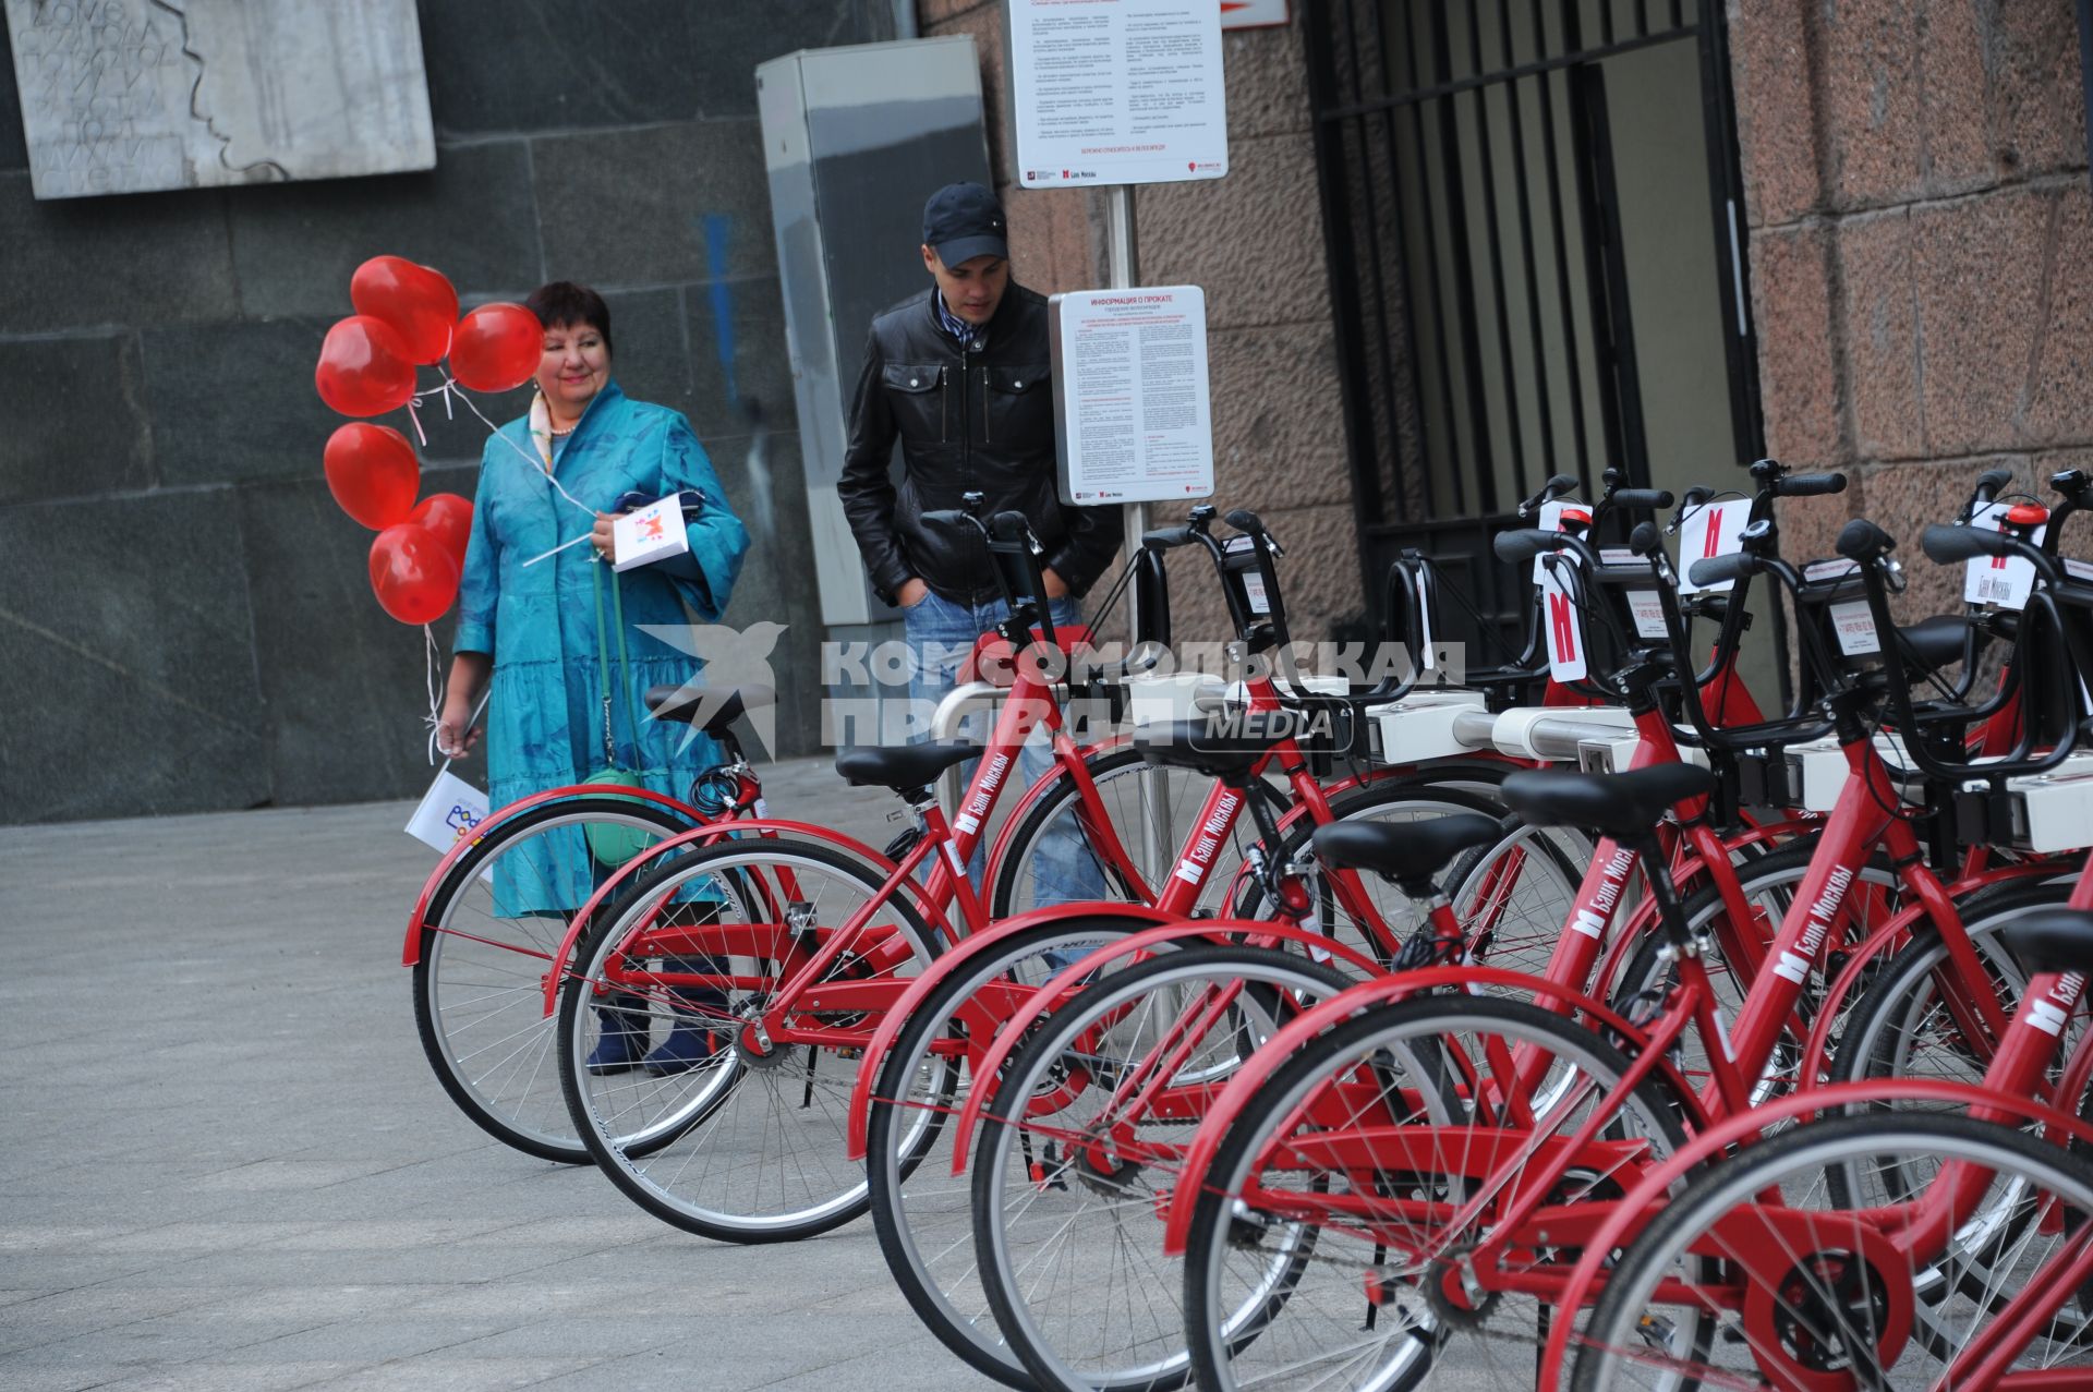
{"label": "pinkish granite block wall right of the black barred gate", "polygon": [[[2093,467],[2093,193],[2066,0],[1731,0],[1766,448],[1846,469],[1787,504],[1905,538],[1984,469]],[[1959,571],[1909,557],[1913,613]]]}

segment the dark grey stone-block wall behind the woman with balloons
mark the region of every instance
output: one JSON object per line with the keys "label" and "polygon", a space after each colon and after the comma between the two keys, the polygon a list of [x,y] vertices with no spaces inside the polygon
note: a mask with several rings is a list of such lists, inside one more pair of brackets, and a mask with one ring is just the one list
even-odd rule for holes
{"label": "dark grey stone-block wall behind the woman with balloons", "polygon": [[[467,301],[550,278],[605,291],[620,381],[691,414],[751,525],[726,620],[791,624],[781,743],[808,749],[820,628],[753,69],[892,38],[892,15],[425,0],[433,174],[67,203],[29,197],[0,54],[0,375],[17,383],[0,823],[427,785],[421,634],[370,597],[370,534],[320,477],[339,421],[312,389],[350,272],[381,251],[444,270]],[[433,414],[425,492],[469,496],[486,429]]]}

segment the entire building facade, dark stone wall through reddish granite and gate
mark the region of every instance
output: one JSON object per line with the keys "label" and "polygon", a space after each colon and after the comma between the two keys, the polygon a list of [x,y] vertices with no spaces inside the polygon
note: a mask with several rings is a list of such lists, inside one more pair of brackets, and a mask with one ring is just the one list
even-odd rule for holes
{"label": "entire building facade, dark stone wall through reddish granite and gate", "polygon": [[[1982,469],[2093,467],[2085,0],[1293,0],[1224,36],[1231,174],[1136,195],[1141,280],[1208,291],[1218,498],[1285,544],[1298,634],[1365,632],[1400,548],[1480,613],[1492,530],[1551,473],[1844,469],[1794,555],[1903,538]],[[904,33],[890,0],[421,6],[433,174],[31,199],[0,63],[0,821],[417,793],[421,636],[364,586],[310,391],[350,270],[467,299],[607,291],[617,375],[684,408],[756,532],[728,622],[789,622],[785,751],[818,722],[753,67]],[[967,33],[1021,283],[1103,283],[1101,207],[1013,186],[1005,6]],[[517,404],[504,402],[513,414]],[[425,412],[427,421],[427,412]],[[425,492],[483,429],[429,421]],[[1166,521],[1157,517],[1157,521]],[[1180,634],[1212,632],[1178,555]],[[1911,561],[1913,615],[1953,578]],[[804,672],[806,680],[791,674]],[[471,772],[471,770],[467,770]]]}

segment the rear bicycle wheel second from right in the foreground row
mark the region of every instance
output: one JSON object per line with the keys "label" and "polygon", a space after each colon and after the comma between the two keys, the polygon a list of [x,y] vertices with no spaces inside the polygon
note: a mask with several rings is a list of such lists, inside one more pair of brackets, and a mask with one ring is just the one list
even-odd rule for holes
{"label": "rear bicycle wheel second from right in the foreground row", "polygon": [[1545,1292],[1580,1258],[1547,1214],[1618,1199],[1683,1143],[1676,1101],[1626,1072],[1597,1034],[1492,996],[1388,1005],[1312,1040],[1183,1176],[1199,1386],[1532,1388],[1530,1352],[1505,1350],[1563,1317]]}

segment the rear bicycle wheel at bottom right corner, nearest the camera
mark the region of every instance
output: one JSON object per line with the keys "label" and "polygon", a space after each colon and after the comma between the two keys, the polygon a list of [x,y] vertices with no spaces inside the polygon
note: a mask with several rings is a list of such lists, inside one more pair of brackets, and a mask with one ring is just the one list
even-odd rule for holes
{"label": "rear bicycle wheel at bottom right corner, nearest the camera", "polygon": [[[1905,1202],[1867,1181],[1886,1162],[1936,1183]],[[2001,1206],[2028,1214],[2003,1254],[1965,1222]],[[1664,1208],[1610,1273],[1572,1386],[2083,1388],[2089,1225],[2093,1166],[2055,1143],[1923,1112],[1810,1122]],[[1716,1338],[1681,1348],[1683,1323]]]}

